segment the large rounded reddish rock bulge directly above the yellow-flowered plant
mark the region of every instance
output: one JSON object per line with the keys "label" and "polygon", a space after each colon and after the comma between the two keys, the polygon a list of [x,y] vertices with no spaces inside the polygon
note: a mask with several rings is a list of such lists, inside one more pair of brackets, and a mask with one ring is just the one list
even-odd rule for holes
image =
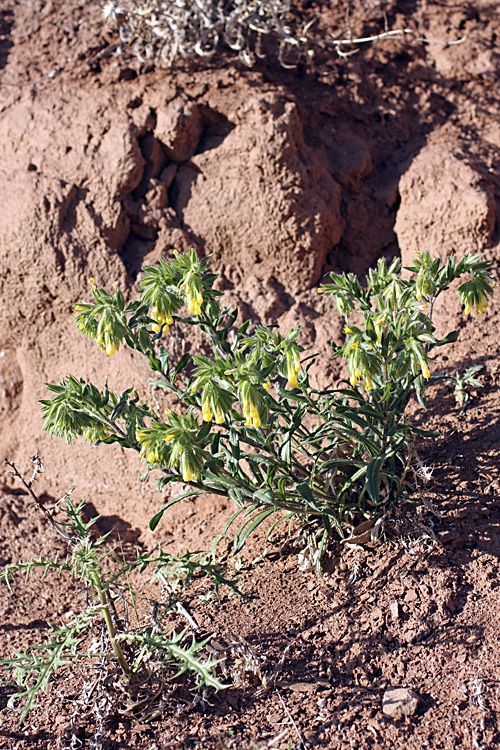
{"label": "large rounded reddish rock bulge directly above the yellow-flowered plant", "polygon": [[326,153],[306,143],[301,108],[280,91],[249,92],[228,123],[179,170],[176,212],[230,278],[237,258],[292,293],[310,288],[344,230]]}

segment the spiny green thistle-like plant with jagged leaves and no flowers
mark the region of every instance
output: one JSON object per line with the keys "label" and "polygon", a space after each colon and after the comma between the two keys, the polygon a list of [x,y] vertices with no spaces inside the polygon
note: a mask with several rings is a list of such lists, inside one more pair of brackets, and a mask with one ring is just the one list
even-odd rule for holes
{"label": "spiny green thistle-like plant with jagged leaves and no flowers", "polygon": [[[105,547],[105,537],[92,536],[92,527],[98,519],[85,522],[83,506],[84,503],[74,506],[69,498],[66,501],[64,528],[70,539],[66,560],[55,557],[20,561],[7,566],[0,574],[0,580],[10,588],[21,572],[28,577],[37,568],[44,575],[49,570],[57,570],[85,583],[91,595],[91,602],[82,613],[62,627],[51,626],[46,643],[29,646],[25,651],[16,651],[10,659],[0,660],[0,666],[8,668],[19,687],[10,704],[21,702],[21,721],[35,708],[39,692],[46,691],[56,674],[76,660],[95,662],[105,659],[111,664],[116,663],[122,673],[125,694],[137,700],[138,705],[138,698],[144,698],[144,694],[147,696],[151,676],[165,681],[188,672],[195,678],[197,686],[221,689],[223,685],[215,674],[217,662],[203,653],[210,638],[202,641],[191,638],[187,642],[187,630],[167,632],[157,620],[149,626],[142,626],[137,620],[135,627],[131,627],[123,617],[117,616],[115,599],[123,599],[128,593],[136,612],[135,591],[130,583],[130,574],[134,570],[143,573],[152,569],[152,580],[160,577],[163,580],[175,579],[184,588],[193,577],[201,574],[213,581],[216,593],[220,585],[227,585],[240,594],[234,581],[226,579],[218,566],[209,562],[207,555],[199,553],[172,556],[160,550],[154,556],[138,556],[133,562],[120,560]],[[172,599],[167,609],[174,610],[176,601]],[[98,622],[105,626],[109,643],[109,649],[103,653],[85,650],[90,631]]]}

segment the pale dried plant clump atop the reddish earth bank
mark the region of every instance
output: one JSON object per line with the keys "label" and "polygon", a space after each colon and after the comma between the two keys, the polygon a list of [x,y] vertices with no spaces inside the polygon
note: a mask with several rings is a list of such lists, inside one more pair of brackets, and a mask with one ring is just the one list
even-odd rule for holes
{"label": "pale dried plant clump atop the reddish earth bank", "polygon": [[[369,9],[376,10],[383,28],[368,35],[355,33],[349,12],[338,34],[322,34],[316,16],[303,18],[286,0],[108,0],[103,17],[118,30],[119,46],[141,65],[164,67],[179,57],[208,61],[224,48],[248,67],[273,50],[282,67],[296,68],[301,62],[312,65],[318,49],[346,58],[382,40],[451,46],[465,39],[430,40],[413,28],[390,29],[383,2],[375,0]],[[371,19],[370,13],[364,18]]]}

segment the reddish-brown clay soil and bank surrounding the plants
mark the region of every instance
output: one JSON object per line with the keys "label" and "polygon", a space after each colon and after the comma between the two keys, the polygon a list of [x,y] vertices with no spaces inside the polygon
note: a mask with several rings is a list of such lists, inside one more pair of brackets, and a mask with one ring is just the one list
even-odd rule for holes
{"label": "reddish-brown clay soil and bank surrounding the plants", "polygon": [[[299,17],[318,13],[322,33],[345,28],[347,2],[293,5]],[[215,497],[176,505],[153,533],[148,521],[165,497],[139,482],[135,455],[42,432],[45,382],[68,373],[100,386],[109,378],[116,390],[147,382],[137,357],[104,358],[74,330],[72,306],[88,297],[89,277],[119,281],[133,297],[144,262],[190,246],[212,252],[242,317],[284,332],[302,325],[325,385],[338,376],[329,342],[342,331],[331,300],[316,294],[329,270],[363,274],[381,255],[408,261],[415,247],[443,257],[481,250],[498,269],[498,4],[350,5],[359,36],[386,22],[465,39],[408,37],[347,59],[323,50],[316,70],[283,70],[272,56],[246,69],[226,53],[204,67],[141,69],[117,54],[94,0],[0,8],[1,455],[23,468],[38,451],[39,491],[57,499],[76,484],[75,497],[127,553],[209,550],[232,506]],[[225,587],[219,600],[184,594],[200,635],[229,649],[243,637],[264,672],[280,667],[267,689],[236,680],[196,703],[181,681],[154,721],[120,713],[118,700],[100,720],[85,693],[93,673],[67,668],[21,726],[9,686],[0,688],[0,747],[498,747],[498,293],[481,318],[464,320],[450,297],[436,315],[439,332],[459,328],[460,339],[434,369],[481,365],[483,387],[463,413],[451,389],[430,389],[418,423],[440,437],[420,448],[433,468],[420,508],[395,517],[378,544],[332,543],[321,578],[299,569],[285,529],[273,542],[257,533],[236,559],[224,539],[226,573],[250,602]],[[1,565],[65,554],[7,475],[1,493]],[[144,617],[162,596],[155,586],[139,592]],[[43,642],[83,606],[84,592],[56,575],[4,587],[2,658]],[[389,688],[414,691],[410,715],[386,717]]]}

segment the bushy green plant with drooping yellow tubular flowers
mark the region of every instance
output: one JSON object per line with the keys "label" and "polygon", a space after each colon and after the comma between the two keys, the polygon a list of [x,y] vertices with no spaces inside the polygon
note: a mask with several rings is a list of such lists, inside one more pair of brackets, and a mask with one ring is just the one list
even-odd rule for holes
{"label": "bushy green plant with drooping yellow tubular flowers", "polygon": [[[125,343],[147,357],[153,385],[172,391],[181,408],[158,414],[133,388],[115,395],[107,384],[100,391],[69,376],[48,386],[45,429],[68,442],[82,437],[138,451],[148,471],[163,473],[160,490],[184,482],[186,493],[151,519],[153,529],[172,503],[216,493],[237,505],[236,549],[277,511],[285,511],[278,520],[319,522],[323,540],[333,531],[345,537],[409,498],[415,438],[435,434],[405,416],[412,396],[425,406],[430,352],[458,336],[436,339],[435,300],[466,276],[458,290],[465,313],[475,306],[481,314],[494,286],[491,263],[479,255],[441,263],[417,252],[406,271],[401,276],[399,260],[389,267],[380,260],[364,287],[353,274],[332,274],[318,290],[335,296],[345,319],[334,356],[346,360],[348,380],[327,390],[309,382],[314,355],[304,357],[299,329],[283,337],[250,321],[235,326],[237,312],[221,306],[216,275],[194,250],[145,266],[141,299],[127,307],[119,290],[92,283],[94,302],[75,306],[77,327],[107,354]],[[164,342],[179,322],[206,334],[210,357],[171,362]]]}

